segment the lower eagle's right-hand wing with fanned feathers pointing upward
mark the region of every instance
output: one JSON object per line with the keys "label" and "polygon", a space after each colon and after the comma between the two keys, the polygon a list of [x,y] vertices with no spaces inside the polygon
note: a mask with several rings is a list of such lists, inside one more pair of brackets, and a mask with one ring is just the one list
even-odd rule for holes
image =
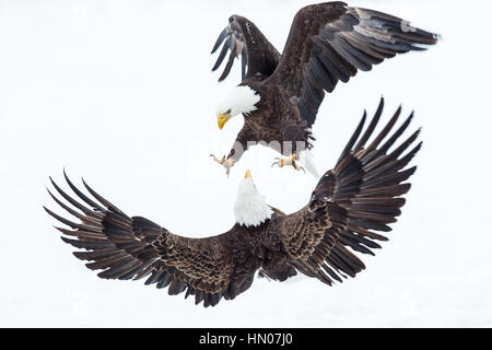
{"label": "lower eagle's right-hand wing with fanned feathers pointing upward", "polygon": [[321,177],[308,206],[279,219],[282,242],[295,267],[328,284],[333,279],[341,282],[339,275],[355,277],[365,268],[351,250],[374,255],[372,249],[380,248],[375,241],[387,241],[378,232],[391,231],[388,224],[401,214],[400,208],[405,205],[401,196],[411,186],[405,182],[417,168],[406,167],[422,143],[402,154],[417,140],[420,130],[390,151],[413,114],[383,143],[394,129],[401,107],[368,143],[383,107],[384,100],[361,136],[366,119],[364,114],[337,166]]}

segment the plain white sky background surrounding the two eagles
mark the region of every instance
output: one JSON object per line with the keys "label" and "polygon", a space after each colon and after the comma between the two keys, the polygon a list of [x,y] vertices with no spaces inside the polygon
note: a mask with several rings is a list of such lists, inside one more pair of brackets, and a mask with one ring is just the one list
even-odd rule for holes
{"label": "plain white sky background surrounding the two eagles", "polygon": [[[204,310],[143,281],[106,281],[75,259],[44,211],[48,176],[80,176],[130,215],[203,237],[234,222],[250,168],[279,209],[304,206],[308,175],[270,170],[249,151],[227,179],[208,155],[227,153],[210,49],[232,13],[281,50],[311,1],[0,1],[0,326],[43,327],[487,327],[492,326],[490,1],[352,1],[443,35],[340,84],[318,114],[314,160],[333,166],[380,95],[385,117],[415,109],[424,149],[390,242],[341,285],[256,280],[234,302]],[[386,119],[387,120],[387,119]],[[65,187],[66,188],[66,187]]]}

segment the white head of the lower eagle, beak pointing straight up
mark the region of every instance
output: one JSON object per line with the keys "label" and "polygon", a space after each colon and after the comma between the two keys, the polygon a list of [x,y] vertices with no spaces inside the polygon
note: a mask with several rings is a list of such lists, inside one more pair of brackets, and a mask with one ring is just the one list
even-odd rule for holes
{"label": "white head of the lower eagle, beak pointing straight up", "polygon": [[239,225],[246,228],[258,226],[273,214],[273,210],[267,205],[265,196],[256,189],[251,173],[246,172],[245,178],[239,184],[234,215]]}

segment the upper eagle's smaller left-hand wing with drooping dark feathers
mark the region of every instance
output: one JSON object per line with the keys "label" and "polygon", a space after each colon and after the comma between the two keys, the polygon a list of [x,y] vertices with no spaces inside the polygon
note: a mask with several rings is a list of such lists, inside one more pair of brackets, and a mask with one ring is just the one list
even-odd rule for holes
{"label": "upper eagle's smaller left-hand wing with drooping dark feathers", "polygon": [[239,56],[242,59],[243,80],[254,77],[263,80],[270,77],[279,63],[279,51],[248,19],[233,15],[229,19],[229,26],[222,31],[212,49],[212,54],[214,54],[222,43],[225,42],[212,71],[221,67],[224,58],[227,56],[227,51],[230,51],[227,63],[219,81],[227,78],[234,60],[239,58]]}

